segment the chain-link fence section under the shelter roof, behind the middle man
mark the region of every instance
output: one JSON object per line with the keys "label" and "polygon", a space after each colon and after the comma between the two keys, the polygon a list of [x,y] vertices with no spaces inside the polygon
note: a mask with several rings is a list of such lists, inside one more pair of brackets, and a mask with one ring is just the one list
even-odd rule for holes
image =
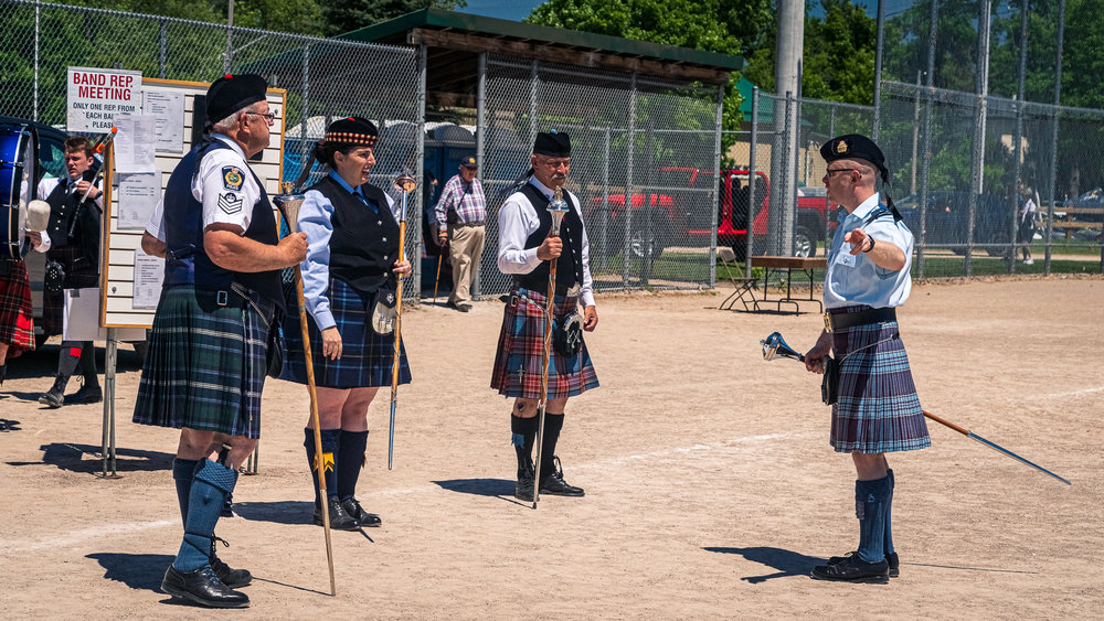
{"label": "chain-link fence section under the shelter roof, behind the middle man", "polygon": [[595,289],[712,287],[719,96],[718,87],[490,55],[480,293],[510,289],[496,266],[496,214],[529,169],[537,132],[549,129],[571,136],[566,188],[582,203]]}

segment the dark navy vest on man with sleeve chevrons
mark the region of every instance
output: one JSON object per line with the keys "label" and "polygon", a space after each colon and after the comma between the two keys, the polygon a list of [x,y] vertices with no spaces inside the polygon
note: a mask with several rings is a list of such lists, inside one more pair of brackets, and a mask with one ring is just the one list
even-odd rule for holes
{"label": "dark navy vest on man with sleeve chevrons", "polygon": [[[200,143],[192,148],[169,176],[164,189],[164,286],[194,285],[206,291],[229,291],[237,282],[272,300],[284,309],[284,290],[280,271],[242,272],[230,271],[216,266],[203,249],[203,204],[192,195],[192,178],[199,170],[202,153],[213,149],[230,149],[221,140]],[[201,153],[202,151],[202,153]],[[246,170],[250,168],[244,167]],[[253,171],[250,170],[253,174]],[[254,242],[275,246],[279,243],[276,234],[276,216],[265,194],[264,184],[253,174],[261,186],[261,197],[253,205],[253,217],[245,236]]]}

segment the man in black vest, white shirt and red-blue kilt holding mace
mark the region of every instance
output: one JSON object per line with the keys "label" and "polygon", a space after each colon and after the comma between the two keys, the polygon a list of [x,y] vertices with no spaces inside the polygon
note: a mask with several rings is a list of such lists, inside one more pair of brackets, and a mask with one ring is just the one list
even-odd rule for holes
{"label": "man in black vest, white shirt and red-blue kilt holding mace", "polygon": [[[570,208],[564,215],[560,236],[549,236],[552,215],[545,208],[554,189],[563,188],[571,170],[571,138],[566,133],[537,135],[530,159],[531,176],[499,208],[498,267],[513,275],[513,291],[506,304],[498,353],[491,375],[491,388],[514,397],[510,429],[518,454],[518,483],[514,496],[531,501],[533,488],[541,494],[582,496],[582,488],[563,480],[555,447],[563,428],[564,408],[574,397],[598,386],[591,356],[581,333],[577,349],[553,346],[549,362],[548,405],[541,439],[541,471],[533,465],[537,441],[537,405],[541,394],[544,352],[544,307],[548,301],[550,259],[556,259],[556,289],[552,314],[554,330],[581,323],[591,332],[598,324],[591,285],[590,247],[580,217],[578,199],[564,191]],[[583,318],[577,319],[582,307]],[[577,330],[576,325],[576,330]],[[570,351],[570,353],[569,353]]]}

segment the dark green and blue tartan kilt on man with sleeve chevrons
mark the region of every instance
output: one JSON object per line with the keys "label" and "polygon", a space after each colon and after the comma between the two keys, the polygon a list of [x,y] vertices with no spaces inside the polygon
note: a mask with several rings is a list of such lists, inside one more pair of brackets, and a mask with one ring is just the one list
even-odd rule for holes
{"label": "dark green and blue tartan kilt on man with sleeve chevrons", "polygon": [[[268,328],[274,304],[253,296],[262,318],[230,293],[220,307],[192,286],[167,287],[153,315],[134,421],[261,437]],[[244,306],[244,308],[243,308]]]}

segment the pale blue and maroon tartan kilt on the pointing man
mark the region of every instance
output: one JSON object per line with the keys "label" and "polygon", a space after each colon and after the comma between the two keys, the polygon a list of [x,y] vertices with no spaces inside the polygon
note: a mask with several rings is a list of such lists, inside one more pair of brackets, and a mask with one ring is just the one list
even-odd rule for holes
{"label": "pale blue and maroon tartan kilt on the pointing man", "polygon": [[[869,307],[849,307],[848,310]],[[932,446],[909,355],[898,322],[832,332],[839,370],[839,400],[831,408],[831,446],[837,452],[883,453]],[[870,349],[860,347],[888,340]],[[847,357],[848,352],[854,355]]]}

